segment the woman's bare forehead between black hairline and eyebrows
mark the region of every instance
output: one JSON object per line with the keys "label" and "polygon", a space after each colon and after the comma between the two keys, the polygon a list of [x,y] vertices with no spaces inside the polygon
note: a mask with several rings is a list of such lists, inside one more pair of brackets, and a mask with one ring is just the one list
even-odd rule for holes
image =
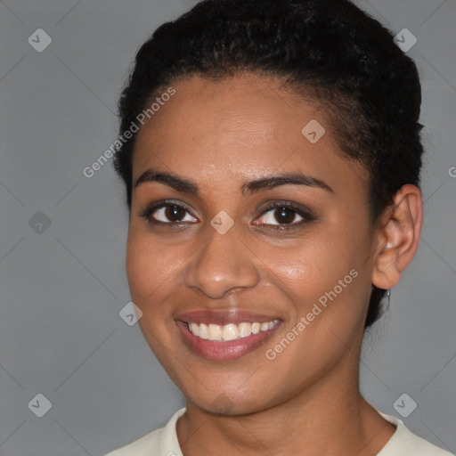
{"label": "woman's bare forehead between black hairline and eyebrows", "polygon": [[316,102],[269,77],[244,75],[214,82],[191,77],[142,126],[134,151],[134,179],[164,167],[210,185],[274,171],[301,171],[333,183],[362,183],[364,173],[338,149]]}

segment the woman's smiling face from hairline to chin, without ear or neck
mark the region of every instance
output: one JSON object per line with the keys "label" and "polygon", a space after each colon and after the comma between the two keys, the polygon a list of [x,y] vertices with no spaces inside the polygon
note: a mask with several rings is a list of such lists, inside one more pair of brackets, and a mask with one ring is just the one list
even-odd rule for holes
{"label": "woman's smiling face from hairline to chin, without ear or neck", "polygon": [[173,87],[134,149],[126,271],[152,351],[205,411],[355,377],[376,248],[366,173],[272,79]]}

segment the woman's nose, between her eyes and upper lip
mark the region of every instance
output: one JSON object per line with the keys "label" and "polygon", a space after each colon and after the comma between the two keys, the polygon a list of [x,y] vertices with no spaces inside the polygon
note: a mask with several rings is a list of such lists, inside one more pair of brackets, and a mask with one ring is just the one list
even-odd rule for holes
{"label": "woman's nose, between her eyes and upper lip", "polygon": [[218,299],[233,290],[255,287],[259,273],[255,254],[240,240],[235,228],[220,234],[211,226],[204,245],[191,256],[184,270],[185,284]]}

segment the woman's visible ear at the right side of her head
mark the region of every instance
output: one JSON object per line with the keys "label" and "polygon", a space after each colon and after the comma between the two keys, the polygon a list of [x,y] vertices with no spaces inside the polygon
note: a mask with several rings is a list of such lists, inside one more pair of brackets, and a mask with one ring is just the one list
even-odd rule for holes
{"label": "woman's visible ear at the right side of her head", "polygon": [[415,185],[407,184],[395,193],[394,204],[380,217],[378,244],[372,283],[392,289],[411,263],[418,248],[423,224],[423,200]]}

